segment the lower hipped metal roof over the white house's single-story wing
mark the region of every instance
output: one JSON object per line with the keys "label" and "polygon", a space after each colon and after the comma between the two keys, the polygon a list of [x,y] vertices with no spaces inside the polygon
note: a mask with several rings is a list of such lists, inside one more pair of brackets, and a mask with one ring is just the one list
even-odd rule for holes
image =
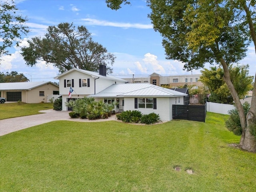
{"label": "lower hipped metal roof over the white house's single-story wing", "polygon": [[89,97],[135,97],[135,96],[151,96],[151,97],[176,97],[187,96],[187,94],[155,86],[149,83],[128,83],[128,84],[112,84],[108,88],[97,94],[89,95]]}

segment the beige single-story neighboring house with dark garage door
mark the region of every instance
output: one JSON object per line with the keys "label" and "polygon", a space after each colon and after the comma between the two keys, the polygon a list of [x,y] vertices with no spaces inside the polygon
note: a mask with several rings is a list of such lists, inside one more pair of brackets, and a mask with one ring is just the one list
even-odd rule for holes
{"label": "beige single-story neighboring house with dark garage door", "polygon": [[52,82],[0,83],[0,94],[6,101],[40,103],[47,102],[47,95],[59,94],[59,86]]}

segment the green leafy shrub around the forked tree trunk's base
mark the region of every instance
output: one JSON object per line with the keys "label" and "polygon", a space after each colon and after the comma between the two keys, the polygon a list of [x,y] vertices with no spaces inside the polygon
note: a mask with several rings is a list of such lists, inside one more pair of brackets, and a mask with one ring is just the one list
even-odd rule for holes
{"label": "green leafy shrub around the forked tree trunk's base", "polygon": [[[246,116],[246,114],[248,113],[249,109],[250,109],[250,104],[248,102],[245,102],[243,104],[243,108],[244,108],[244,116]],[[238,115],[238,111],[237,109],[232,109],[228,111],[228,114],[230,114],[228,120],[226,120],[226,128],[228,128],[228,130],[230,130],[231,132],[233,132],[235,135],[242,135],[242,126],[240,123],[240,118]],[[255,129],[252,129],[253,131],[255,131]],[[254,136],[256,136],[256,134],[252,133]]]}

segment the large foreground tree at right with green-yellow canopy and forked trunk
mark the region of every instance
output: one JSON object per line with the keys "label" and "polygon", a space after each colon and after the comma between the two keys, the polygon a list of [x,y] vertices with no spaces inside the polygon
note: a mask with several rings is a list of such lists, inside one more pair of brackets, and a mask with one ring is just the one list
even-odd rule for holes
{"label": "large foreground tree at right with green-yellow canopy and forked trunk", "polygon": [[[112,9],[127,0],[107,0]],[[184,63],[186,70],[220,63],[238,110],[242,136],[240,146],[256,152],[256,81],[249,112],[244,109],[230,78],[229,65],[246,56],[252,40],[256,50],[255,0],[147,0],[154,30],[163,36],[167,59]],[[119,6],[118,6],[119,4]],[[255,74],[256,76],[256,74]]]}

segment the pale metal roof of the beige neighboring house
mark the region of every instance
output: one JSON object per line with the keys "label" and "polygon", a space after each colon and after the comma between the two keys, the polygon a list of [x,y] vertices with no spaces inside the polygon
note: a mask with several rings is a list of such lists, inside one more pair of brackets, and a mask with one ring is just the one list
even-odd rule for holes
{"label": "pale metal roof of the beige neighboring house", "polygon": [[58,87],[58,85],[48,82],[13,82],[13,83],[0,83],[0,90],[31,90],[44,84],[51,83]]}

